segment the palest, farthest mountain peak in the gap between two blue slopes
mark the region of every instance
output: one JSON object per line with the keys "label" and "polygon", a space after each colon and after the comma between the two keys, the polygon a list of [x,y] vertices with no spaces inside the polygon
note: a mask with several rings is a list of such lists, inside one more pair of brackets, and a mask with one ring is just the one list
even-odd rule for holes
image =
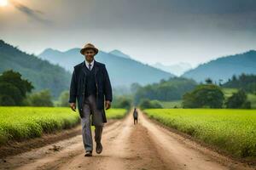
{"label": "palest, farthest mountain peak in the gap between two blue slopes", "polygon": [[184,62],[180,62],[176,65],[163,65],[161,63],[155,63],[152,66],[154,66],[155,68],[158,68],[162,71],[170,72],[176,76],[180,76],[185,71],[189,71],[192,68],[192,66],[189,65],[189,63],[184,63]]}

